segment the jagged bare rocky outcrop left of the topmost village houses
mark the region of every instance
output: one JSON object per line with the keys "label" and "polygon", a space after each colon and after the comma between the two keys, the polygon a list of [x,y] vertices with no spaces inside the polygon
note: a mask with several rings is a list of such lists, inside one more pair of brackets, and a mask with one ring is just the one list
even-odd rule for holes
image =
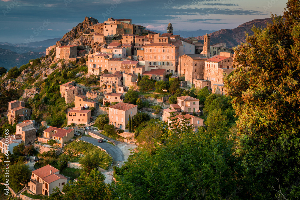
{"label": "jagged bare rocky outcrop left of the topmost village houses", "polygon": [[[77,26],[72,28],[72,30],[64,35],[58,42],[56,42],[55,46],[63,46],[63,45],[91,45],[89,41],[90,37],[85,36],[82,37],[82,34],[88,29],[92,29],[92,25],[97,24],[98,20],[93,17],[85,17],[82,23],[79,23]],[[79,39],[79,37],[81,37]],[[79,39],[79,40],[78,40]],[[77,41],[76,41],[77,40]]]}

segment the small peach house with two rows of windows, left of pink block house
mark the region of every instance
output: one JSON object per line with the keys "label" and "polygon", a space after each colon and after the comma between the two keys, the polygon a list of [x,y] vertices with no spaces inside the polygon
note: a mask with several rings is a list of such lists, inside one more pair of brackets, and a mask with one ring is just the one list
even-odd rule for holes
{"label": "small peach house with two rows of windows, left of pink block house", "polygon": [[89,124],[91,122],[91,111],[90,110],[83,110],[82,107],[73,108],[72,110],[68,111],[68,125],[74,123],[77,124]]}

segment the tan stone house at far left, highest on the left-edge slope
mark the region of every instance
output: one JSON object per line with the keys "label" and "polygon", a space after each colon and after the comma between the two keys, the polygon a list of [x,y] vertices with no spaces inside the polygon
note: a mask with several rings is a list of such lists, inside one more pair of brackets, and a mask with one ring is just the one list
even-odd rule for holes
{"label": "tan stone house at far left, highest on the left-edge slope", "polygon": [[8,102],[8,110],[7,110],[7,116],[8,116],[8,122],[10,124],[14,123],[15,118],[19,115],[19,121],[24,121],[29,118],[31,114],[31,109],[25,108],[25,103],[23,101],[10,101]]}

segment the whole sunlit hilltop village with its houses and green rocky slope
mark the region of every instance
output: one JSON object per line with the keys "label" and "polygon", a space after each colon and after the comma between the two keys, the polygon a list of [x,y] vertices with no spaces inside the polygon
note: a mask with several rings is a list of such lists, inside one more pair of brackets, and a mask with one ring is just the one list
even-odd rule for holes
{"label": "whole sunlit hilltop village with its houses and green rocky slope", "polygon": [[[235,55],[225,43],[210,44],[208,34],[203,41],[182,38],[173,35],[171,22],[164,34],[131,19],[99,23],[86,17],[85,22],[80,35],[70,39],[67,33],[46,49],[46,56],[2,76],[7,91],[23,92],[1,114],[2,125],[9,124],[8,135],[0,140],[2,161],[9,154],[15,163],[31,166],[29,182],[20,181],[22,187],[11,184],[12,196],[38,199],[55,193],[55,188],[59,193],[77,180],[80,169],[89,168],[82,160],[99,155],[98,150],[106,161],[96,168],[110,172],[121,167],[129,149],[146,148],[139,135],[147,123],[160,128],[160,138],[180,124],[193,132],[205,129],[206,97],[226,95],[224,78],[235,70]],[[68,159],[59,164],[64,156]],[[112,180],[113,175],[106,176],[106,183]]]}

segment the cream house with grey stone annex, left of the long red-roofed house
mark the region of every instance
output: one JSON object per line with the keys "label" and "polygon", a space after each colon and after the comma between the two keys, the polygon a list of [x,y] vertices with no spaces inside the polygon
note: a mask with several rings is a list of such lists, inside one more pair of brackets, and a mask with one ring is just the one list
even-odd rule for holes
{"label": "cream house with grey stone annex, left of the long red-roofed house", "polygon": [[37,136],[34,124],[34,120],[25,120],[16,126],[16,134],[21,135],[22,142],[24,142],[25,145],[31,145],[35,142]]}

